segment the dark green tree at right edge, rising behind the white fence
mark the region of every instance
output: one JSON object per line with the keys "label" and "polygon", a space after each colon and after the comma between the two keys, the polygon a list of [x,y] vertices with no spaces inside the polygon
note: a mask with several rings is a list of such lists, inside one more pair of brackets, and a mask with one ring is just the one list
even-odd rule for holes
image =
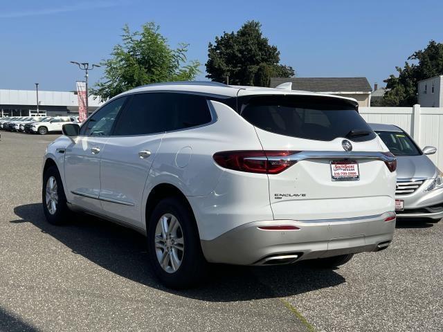
{"label": "dark green tree at right edge, rising behind the white fence", "polygon": [[424,50],[417,50],[408,57],[413,64],[405,62],[404,67],[395,67],[398,77],[390,75],[386,88],[391,89],[381,100],[383,106],[413,106],[417,104],[417,86],[420,80],[443,75],[443,44],[433,40]]}

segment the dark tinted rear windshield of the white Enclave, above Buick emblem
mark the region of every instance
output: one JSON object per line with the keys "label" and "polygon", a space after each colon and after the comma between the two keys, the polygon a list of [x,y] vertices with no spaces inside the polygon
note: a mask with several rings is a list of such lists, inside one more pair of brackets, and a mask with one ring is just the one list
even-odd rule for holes
{"label": "dark tinted rear windshield of the white Enclave, above Buick emblem", "polygon": [[374,139],[356,106],[338,98],[260,95],[239,100],[239,113],[260,129],[309,140]]}

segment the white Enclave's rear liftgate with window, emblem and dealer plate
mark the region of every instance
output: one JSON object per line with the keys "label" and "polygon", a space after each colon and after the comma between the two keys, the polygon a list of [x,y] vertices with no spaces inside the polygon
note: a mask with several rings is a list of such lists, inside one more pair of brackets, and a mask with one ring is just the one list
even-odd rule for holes
{"label": "white Enclave's rear liftgate with window, emblem and dealer plate", "polygon": [[239,105],[264,150],[292,155],[291,167],[269,174],[275,219],[341,219],[394,210],[395,175],[377,157],[388,150],[353,102],[255,95],[239,98]]}

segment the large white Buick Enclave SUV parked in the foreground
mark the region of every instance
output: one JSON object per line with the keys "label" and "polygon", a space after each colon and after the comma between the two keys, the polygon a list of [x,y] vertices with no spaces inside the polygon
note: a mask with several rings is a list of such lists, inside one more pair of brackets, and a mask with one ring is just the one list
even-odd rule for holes
{"label": "large white Buick Enclave SUV parked in the foreground", "polygon": [[152,84],[63,132],[44,157],[48,221],[87,212],[146,234],[170,287],[207,262],[333,267],[392,240],[396,160],[350,98]]}

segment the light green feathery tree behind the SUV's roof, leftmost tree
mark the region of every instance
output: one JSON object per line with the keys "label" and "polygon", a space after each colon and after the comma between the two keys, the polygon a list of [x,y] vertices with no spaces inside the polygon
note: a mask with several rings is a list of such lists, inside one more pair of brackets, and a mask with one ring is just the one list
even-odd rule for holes
{"label": "light green feathery tree behind the SUV's roof, leftmost tree", "polygon": [[200,64],[187,62],[188,44],[172,49],[159,30],[153,22],[134,33],[125,25],[122,44],[114,46],[110,59],[102,61],[105,75],[91,92],[107,100],[144,84],[194,80]]}

